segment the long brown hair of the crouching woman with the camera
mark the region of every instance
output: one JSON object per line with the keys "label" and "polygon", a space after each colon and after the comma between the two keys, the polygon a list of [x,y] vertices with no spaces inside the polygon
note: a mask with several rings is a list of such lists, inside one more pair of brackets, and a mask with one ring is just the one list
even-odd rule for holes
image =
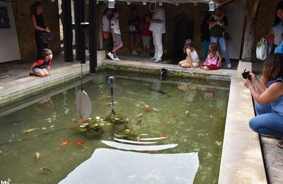
{"label": "long brown hair of the crouching woman with the camera", "polygon": [[262,84],[283,77],[283,54],[271,54],[265,59],[262,69]]}

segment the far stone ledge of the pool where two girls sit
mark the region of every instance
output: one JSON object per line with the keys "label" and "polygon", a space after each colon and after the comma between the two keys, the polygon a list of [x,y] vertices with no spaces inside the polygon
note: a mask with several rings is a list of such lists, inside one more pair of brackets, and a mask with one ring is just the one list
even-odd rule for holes
{"label": "far stone ledge of the pool where two girls sit", "polygon": [[168,76],[193,77],[201,79],[213,79],[220,81],[231,81],[231,76],[237,73],[232,69],[219,69],[214,71],[207,71],[200,68],[184,69],[176,64],[161,64],[154,62],[136,62],[121,60],[118,62],[103,59],[103,67],[106,69],[113,69],[119,71],[135,71],[144,74],[159,74],[160,69],[167,69]]}

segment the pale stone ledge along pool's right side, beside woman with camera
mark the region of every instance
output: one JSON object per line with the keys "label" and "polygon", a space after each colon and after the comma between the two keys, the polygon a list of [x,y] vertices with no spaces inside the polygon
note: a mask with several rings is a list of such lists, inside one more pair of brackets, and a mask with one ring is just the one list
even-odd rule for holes
{"label": "pale stone ledge along pool's right side, beside woman with camera", "polygon": [[219,184],[267,183],[260,140],[248,125],[255,113],[250,91],[243,86],[243,69],[250,70],[251,63],[239,62],[231,79]]}

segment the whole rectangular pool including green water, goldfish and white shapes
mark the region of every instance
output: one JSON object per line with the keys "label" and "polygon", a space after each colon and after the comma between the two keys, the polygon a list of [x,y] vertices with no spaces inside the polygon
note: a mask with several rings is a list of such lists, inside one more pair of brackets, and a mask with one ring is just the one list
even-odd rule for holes
{"label": "whole rectangular pool including green water, goldfish and white shapes", "polygon": [[[115,111],[125,123],[105,120],[108,76],[115,76]],[[74,122],[79,119],[79,81],[29,97],[0,113],[0,178],[13,183],[70,183],[68,177],[74,176],[81,183],[91,177],[96,183],[111,183],[108,178],[116,183],[217,183],[229,85],[116,71],[87,76],[84,91],[102,130],[93,137]],[[154,150],[162,145],[168,147]],[[87,161],[95,165],[86,168]]]}

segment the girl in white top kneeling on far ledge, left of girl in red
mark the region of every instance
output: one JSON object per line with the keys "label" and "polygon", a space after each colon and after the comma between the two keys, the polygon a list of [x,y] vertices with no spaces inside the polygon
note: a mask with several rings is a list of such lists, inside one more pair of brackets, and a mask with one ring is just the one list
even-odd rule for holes
{"label": "girl in white top kneeling on far ledge, left of girl in red", "polygon": [[187,39],[184,45],[184,52],[187,54],[185,60],[180,61],[179,65],[182,68],[196,68],[199,67],[200,59],[197,51],[195,50],[192,40]]}

